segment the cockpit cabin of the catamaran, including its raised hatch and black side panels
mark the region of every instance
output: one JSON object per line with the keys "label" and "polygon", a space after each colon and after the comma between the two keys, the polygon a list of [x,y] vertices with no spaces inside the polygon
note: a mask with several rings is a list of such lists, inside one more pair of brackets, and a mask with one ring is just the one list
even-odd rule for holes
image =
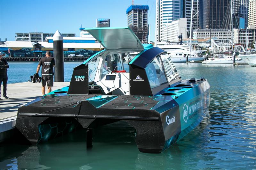
{"label": "cockpit cabin of the catamaran, including its raised hatch and black side panels", "polygon": [[129,27],[86,30],[104,49],[74,69],[69,94],[154,95],[179,78],[168,54],[141,44]]}

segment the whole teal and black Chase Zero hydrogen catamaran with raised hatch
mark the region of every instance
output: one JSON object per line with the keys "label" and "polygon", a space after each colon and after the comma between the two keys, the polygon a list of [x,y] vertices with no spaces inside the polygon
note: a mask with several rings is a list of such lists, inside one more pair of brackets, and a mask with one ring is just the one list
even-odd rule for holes
{"label": "whole teal and black Chase Zero hydrogen catamaran with raised hatch", "polygon": [[68,87],[19,108],[16,128],[28,141],[123,120],[136,129],[140,152],[160,153],[202,121],[206,79],[182,80],[166,51],[143,46],[128,27],[86,30],[104,49],[74,68]]}

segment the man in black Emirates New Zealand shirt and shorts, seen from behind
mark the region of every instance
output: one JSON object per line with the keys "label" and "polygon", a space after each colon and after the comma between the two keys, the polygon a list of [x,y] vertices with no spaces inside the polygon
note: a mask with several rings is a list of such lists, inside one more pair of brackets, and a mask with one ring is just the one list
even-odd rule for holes
{"label": "man in black Emirates New Zealand shirt and shorts, seen from behind", "polygon": [[55,66],[55,60],[53,57],[51,57],[51,52],[46,51],[45,57],[41,58],[37,69],[36,74],[38,74],[40,67],[42,66],[42,94],[45,94],[45,85],[47,82],[48,91],[52,92],[52,86],[53,86],[53,67]]}

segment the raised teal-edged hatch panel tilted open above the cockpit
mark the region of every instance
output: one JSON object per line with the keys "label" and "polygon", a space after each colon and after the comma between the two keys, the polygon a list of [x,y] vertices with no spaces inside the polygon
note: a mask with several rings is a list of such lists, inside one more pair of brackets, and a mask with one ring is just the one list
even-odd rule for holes
{"label": "raised teal-edged hatch panel tilted open above the cockpit", "polygon": [[143,45],[129,27],[85,28],[104,49],[133,49],[141,51]]}

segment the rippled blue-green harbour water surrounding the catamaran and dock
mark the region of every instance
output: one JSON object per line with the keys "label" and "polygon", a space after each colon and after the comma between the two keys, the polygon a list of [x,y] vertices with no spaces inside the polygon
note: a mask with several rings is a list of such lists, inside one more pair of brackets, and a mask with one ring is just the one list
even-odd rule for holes
{"label": "rippled blue-green harbour water surrounding the catamaran and dock", "polygon": [[[65,81],[81,62],[65,62]],[[37,63],[9,63],[8,83],[24,82]],[[175,63],[182,79],[211,85],[205,119],[161,154],[138,151],[135,129],[124,122],[94,129],[93,148],[77,130],[39,145],[0,144],[0,169],[256,169],[256,67]]]}

